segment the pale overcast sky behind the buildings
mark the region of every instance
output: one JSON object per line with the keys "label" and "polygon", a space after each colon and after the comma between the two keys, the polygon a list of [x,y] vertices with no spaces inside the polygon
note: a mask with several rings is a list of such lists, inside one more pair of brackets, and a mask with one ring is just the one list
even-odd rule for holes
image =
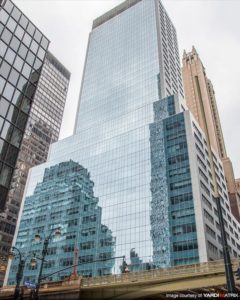
{"label": "pale overcast sky behind the buildings", "polygon": [[[92,21],[122,0],[13,0],[71,72],[60,139],[72,135]],[[228,156],[240,177],[240,1],[163,0],[183,50],[195,46],[211,79]]]}

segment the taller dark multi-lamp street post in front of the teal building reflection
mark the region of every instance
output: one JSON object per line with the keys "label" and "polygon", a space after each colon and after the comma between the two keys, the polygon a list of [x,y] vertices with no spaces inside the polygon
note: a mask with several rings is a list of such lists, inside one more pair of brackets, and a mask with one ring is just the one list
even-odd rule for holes
{"label": "taller dark multi-lamp street post in front of the teal building reflection", "polygon": [[[47,255],[47,250],[48,250],[48,244],[49,244],[49,241],[50,241],[50,238],[52,237],[52,234],[53,232],[55,232],[55,236],[60,236],[61,235],[61,231],[60,231],[60,227],[57,227],[57,228],[53,228],[50,232],[50,234],[44,239],[44,242],[43,242],[43,249],[42,249],[42,256],[41,257],[34,257],[32,258],[31,260],[31,264],[32,265],[36,265],[36,259],[40,260],[41,263],[40,263],[40,271],[39,271],[39,274],[38,274],[38,280],[37,280],[37,284],[36,284],[36,288],[35,288],[35,291],[34,291],[34,294],[33,294],[33,299],[35,300],[38,300],[39,299],[39,288],[40,288],[40,284],[41,284],[41,280],[42,280],[42,271],[43,271],[43,263],[45,262],[45,257]],[[37,233],[35,235],[35,240],[36,241],[40,241],[41,240],[41,236],[39,233]]]}

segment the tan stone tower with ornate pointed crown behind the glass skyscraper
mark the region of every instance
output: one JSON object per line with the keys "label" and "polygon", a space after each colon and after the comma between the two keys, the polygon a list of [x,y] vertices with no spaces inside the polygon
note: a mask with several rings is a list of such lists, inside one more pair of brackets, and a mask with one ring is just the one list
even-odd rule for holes
{"label": "tan stone tower with ornate pointed crown behind the glass skyscraper", "polygon": [[232,162],[227,157],[225,149],[215,92],[194,47],[191,52],[184,52],[182,74],[187,106],[204,130],[209,141],[209,147],[212,146],[218,152],[223,162],[231,210],[240,221],[238,208],[240,198],[236,191]]}

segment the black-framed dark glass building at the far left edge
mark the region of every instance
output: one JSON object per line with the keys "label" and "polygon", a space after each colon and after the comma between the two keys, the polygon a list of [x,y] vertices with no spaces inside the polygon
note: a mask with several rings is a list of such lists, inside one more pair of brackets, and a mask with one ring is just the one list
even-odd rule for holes
{"label": "black-framed dark glass building at the far left edge", "polygon": [[5,207],[48,44],[46,37],[11,1],[1,2],[0,211]]}

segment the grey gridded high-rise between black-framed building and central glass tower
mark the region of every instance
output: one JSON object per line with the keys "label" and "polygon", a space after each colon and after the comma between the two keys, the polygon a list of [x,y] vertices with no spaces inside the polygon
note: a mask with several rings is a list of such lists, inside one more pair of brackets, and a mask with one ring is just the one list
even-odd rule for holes
{"label": "grey gridded high-rise between black-framed building and central glass tower", "polygon": [[10,250],[29,169],[45,162],[58,140],[69,79],[69,71],[47,51],[1,216],[0,255]]}

